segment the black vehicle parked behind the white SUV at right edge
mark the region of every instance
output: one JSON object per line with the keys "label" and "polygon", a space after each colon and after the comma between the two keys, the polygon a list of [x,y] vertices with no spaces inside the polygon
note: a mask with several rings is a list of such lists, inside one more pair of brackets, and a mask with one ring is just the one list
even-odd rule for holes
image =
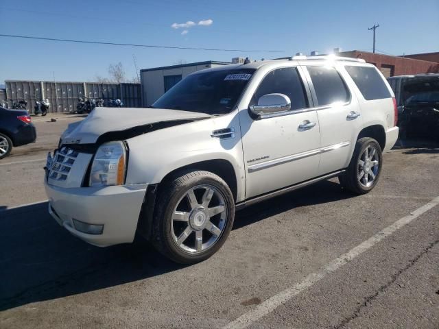
{"label": "black vehicle parked behind the white SUV at right edge", "polygon": [[439,74],[388,78],[398,101],[402,136],[423,136],[439,141]]}

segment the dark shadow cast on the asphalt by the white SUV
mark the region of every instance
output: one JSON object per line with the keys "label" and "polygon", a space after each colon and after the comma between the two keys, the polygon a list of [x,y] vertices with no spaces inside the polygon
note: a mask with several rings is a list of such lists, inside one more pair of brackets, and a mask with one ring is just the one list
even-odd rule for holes
{"label": "dark shadow cast on the asphalt by the white SUV", "polygon": [[[320,182],[237,212],[234,229],[293,208],[348,197],[353,195],[344,193],[338,183]],[[182,268],[141,239],[106,248],[88,245],[51,219],[46,202],[0,211],[0,310]]]}

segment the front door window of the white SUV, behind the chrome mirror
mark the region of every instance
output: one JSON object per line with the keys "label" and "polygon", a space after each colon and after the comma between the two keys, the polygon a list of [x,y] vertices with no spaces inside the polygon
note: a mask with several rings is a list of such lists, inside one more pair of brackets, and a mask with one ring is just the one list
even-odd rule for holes
{"label": "front door window of the white SUV, behind the chrome mirror", "polygon": [[308,107],[305,89],[295,67],[276,69],[265,75],[254,93],[250,105],[257,104],[259,97],[273,93],[287,95],[291,101],[292,110]]}

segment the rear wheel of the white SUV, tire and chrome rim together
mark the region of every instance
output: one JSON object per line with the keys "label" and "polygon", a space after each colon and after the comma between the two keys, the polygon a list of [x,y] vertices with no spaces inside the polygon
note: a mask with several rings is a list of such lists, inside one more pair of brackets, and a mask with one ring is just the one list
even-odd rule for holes
{"label": "rear wheel of the white SUV, tire and chrome rim together", "polygon": [[379,143],[370,137],[360,138],[348,169],[339,176],[340,184],[356,194],[366,194],[377,185],[383,154]]}

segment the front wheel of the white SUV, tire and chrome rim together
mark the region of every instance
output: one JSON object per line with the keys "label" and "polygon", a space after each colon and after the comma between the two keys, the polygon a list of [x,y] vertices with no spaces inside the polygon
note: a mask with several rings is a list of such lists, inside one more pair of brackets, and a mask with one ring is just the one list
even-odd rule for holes
{"label": "front wheel of the white SUV, tire and chrome rim together", "polygon": [[233,226],[235,202],[226,182],[209,171],[185,171],[158,194],[152,243],[180,264],[215,254]]}

